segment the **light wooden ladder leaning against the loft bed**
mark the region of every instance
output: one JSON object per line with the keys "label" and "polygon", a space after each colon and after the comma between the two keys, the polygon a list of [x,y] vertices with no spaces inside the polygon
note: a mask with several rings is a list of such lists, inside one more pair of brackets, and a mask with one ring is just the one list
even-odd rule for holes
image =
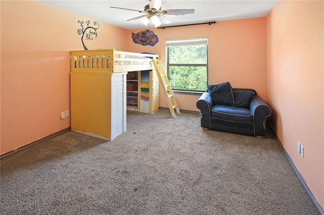
{"label": "light wooden ladder leaning against the loft bed", "polygon": [[176,110],[177,114],[181,114],[181,113],[180,113],[176,98],[173,94],[172,88],[170,86],[168,76],[163,68],[161,60],[153,59],[152,62],[153,62],[156,74],[158,76],[159,82],[161,84],[163,84],[163,86],[162,86],[163,94],[167,99],[167,103],[168,103],[171,115],[173,118],[176,118],[177,116],[176,116],[176,113],[174,110]]}

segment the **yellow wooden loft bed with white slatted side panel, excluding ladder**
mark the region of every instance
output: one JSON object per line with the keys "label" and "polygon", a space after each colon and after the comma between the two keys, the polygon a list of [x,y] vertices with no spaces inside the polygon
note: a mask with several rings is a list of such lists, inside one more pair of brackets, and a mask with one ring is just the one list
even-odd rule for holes
{"label": "yellow wooden loft bed with white slatted side panel, excluding ladder", "polygon": [[[115,49],[70,51],[71,131],[110,141],[124,133],[127,73],[155,71],[153,60],[158,57]],[[158,93],[155,85],[152,89]],[[158,108],[158,101],[154,104]]]}

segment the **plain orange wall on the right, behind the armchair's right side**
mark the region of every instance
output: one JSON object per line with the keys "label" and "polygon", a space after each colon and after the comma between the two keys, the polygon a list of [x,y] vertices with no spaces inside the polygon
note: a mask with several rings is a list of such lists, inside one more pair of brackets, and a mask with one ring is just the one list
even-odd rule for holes
{"label": "plain orange wall on the right, behind the armchair's right side", "polygon": [[[279,1],[266,19],[275,133],[324,207],[323,1]],[[304,158],[297,152],[304,146]]]}

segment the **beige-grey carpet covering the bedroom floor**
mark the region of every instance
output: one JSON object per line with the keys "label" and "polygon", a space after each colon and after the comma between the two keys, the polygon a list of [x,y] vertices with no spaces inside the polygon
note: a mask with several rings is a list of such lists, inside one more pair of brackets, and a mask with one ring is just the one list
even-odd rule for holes
{"label": "beige-grey carpet covering the bedroom floor", "polygon": [[318,214],[270,129],[127,114],[111,142],[67,132],[3,158],[1,214]]}

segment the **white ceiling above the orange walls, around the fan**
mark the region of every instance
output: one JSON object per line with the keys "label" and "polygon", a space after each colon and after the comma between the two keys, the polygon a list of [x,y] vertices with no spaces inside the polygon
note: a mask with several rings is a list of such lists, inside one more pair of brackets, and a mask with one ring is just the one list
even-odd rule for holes
{"label": "white ceiling above the orange walls, around the fan", "polygon": [[[112,7],[144,10],[149,0],[119,0],[119,1],[63,1],[63,0],[38,0],[57,8],[65,9],[80,15],[92,18],[91,22],[97,21],[109,23],[125,29],[140,29],[146,26],[141,19],[126,21],[142,15],[135,11],[112,9]],[[167,16],[171,20],[169,25],[192,24],[210,21],[225,21],[235,19],[246,19],[265,17],[276,4],[277,0],[209,0],[209,1],[185,1],[185,0],[163,0],[162,10],[169,9],[194,9],[194,14],[185,16]],[[167,26],[167,25],[165,25]]]}

